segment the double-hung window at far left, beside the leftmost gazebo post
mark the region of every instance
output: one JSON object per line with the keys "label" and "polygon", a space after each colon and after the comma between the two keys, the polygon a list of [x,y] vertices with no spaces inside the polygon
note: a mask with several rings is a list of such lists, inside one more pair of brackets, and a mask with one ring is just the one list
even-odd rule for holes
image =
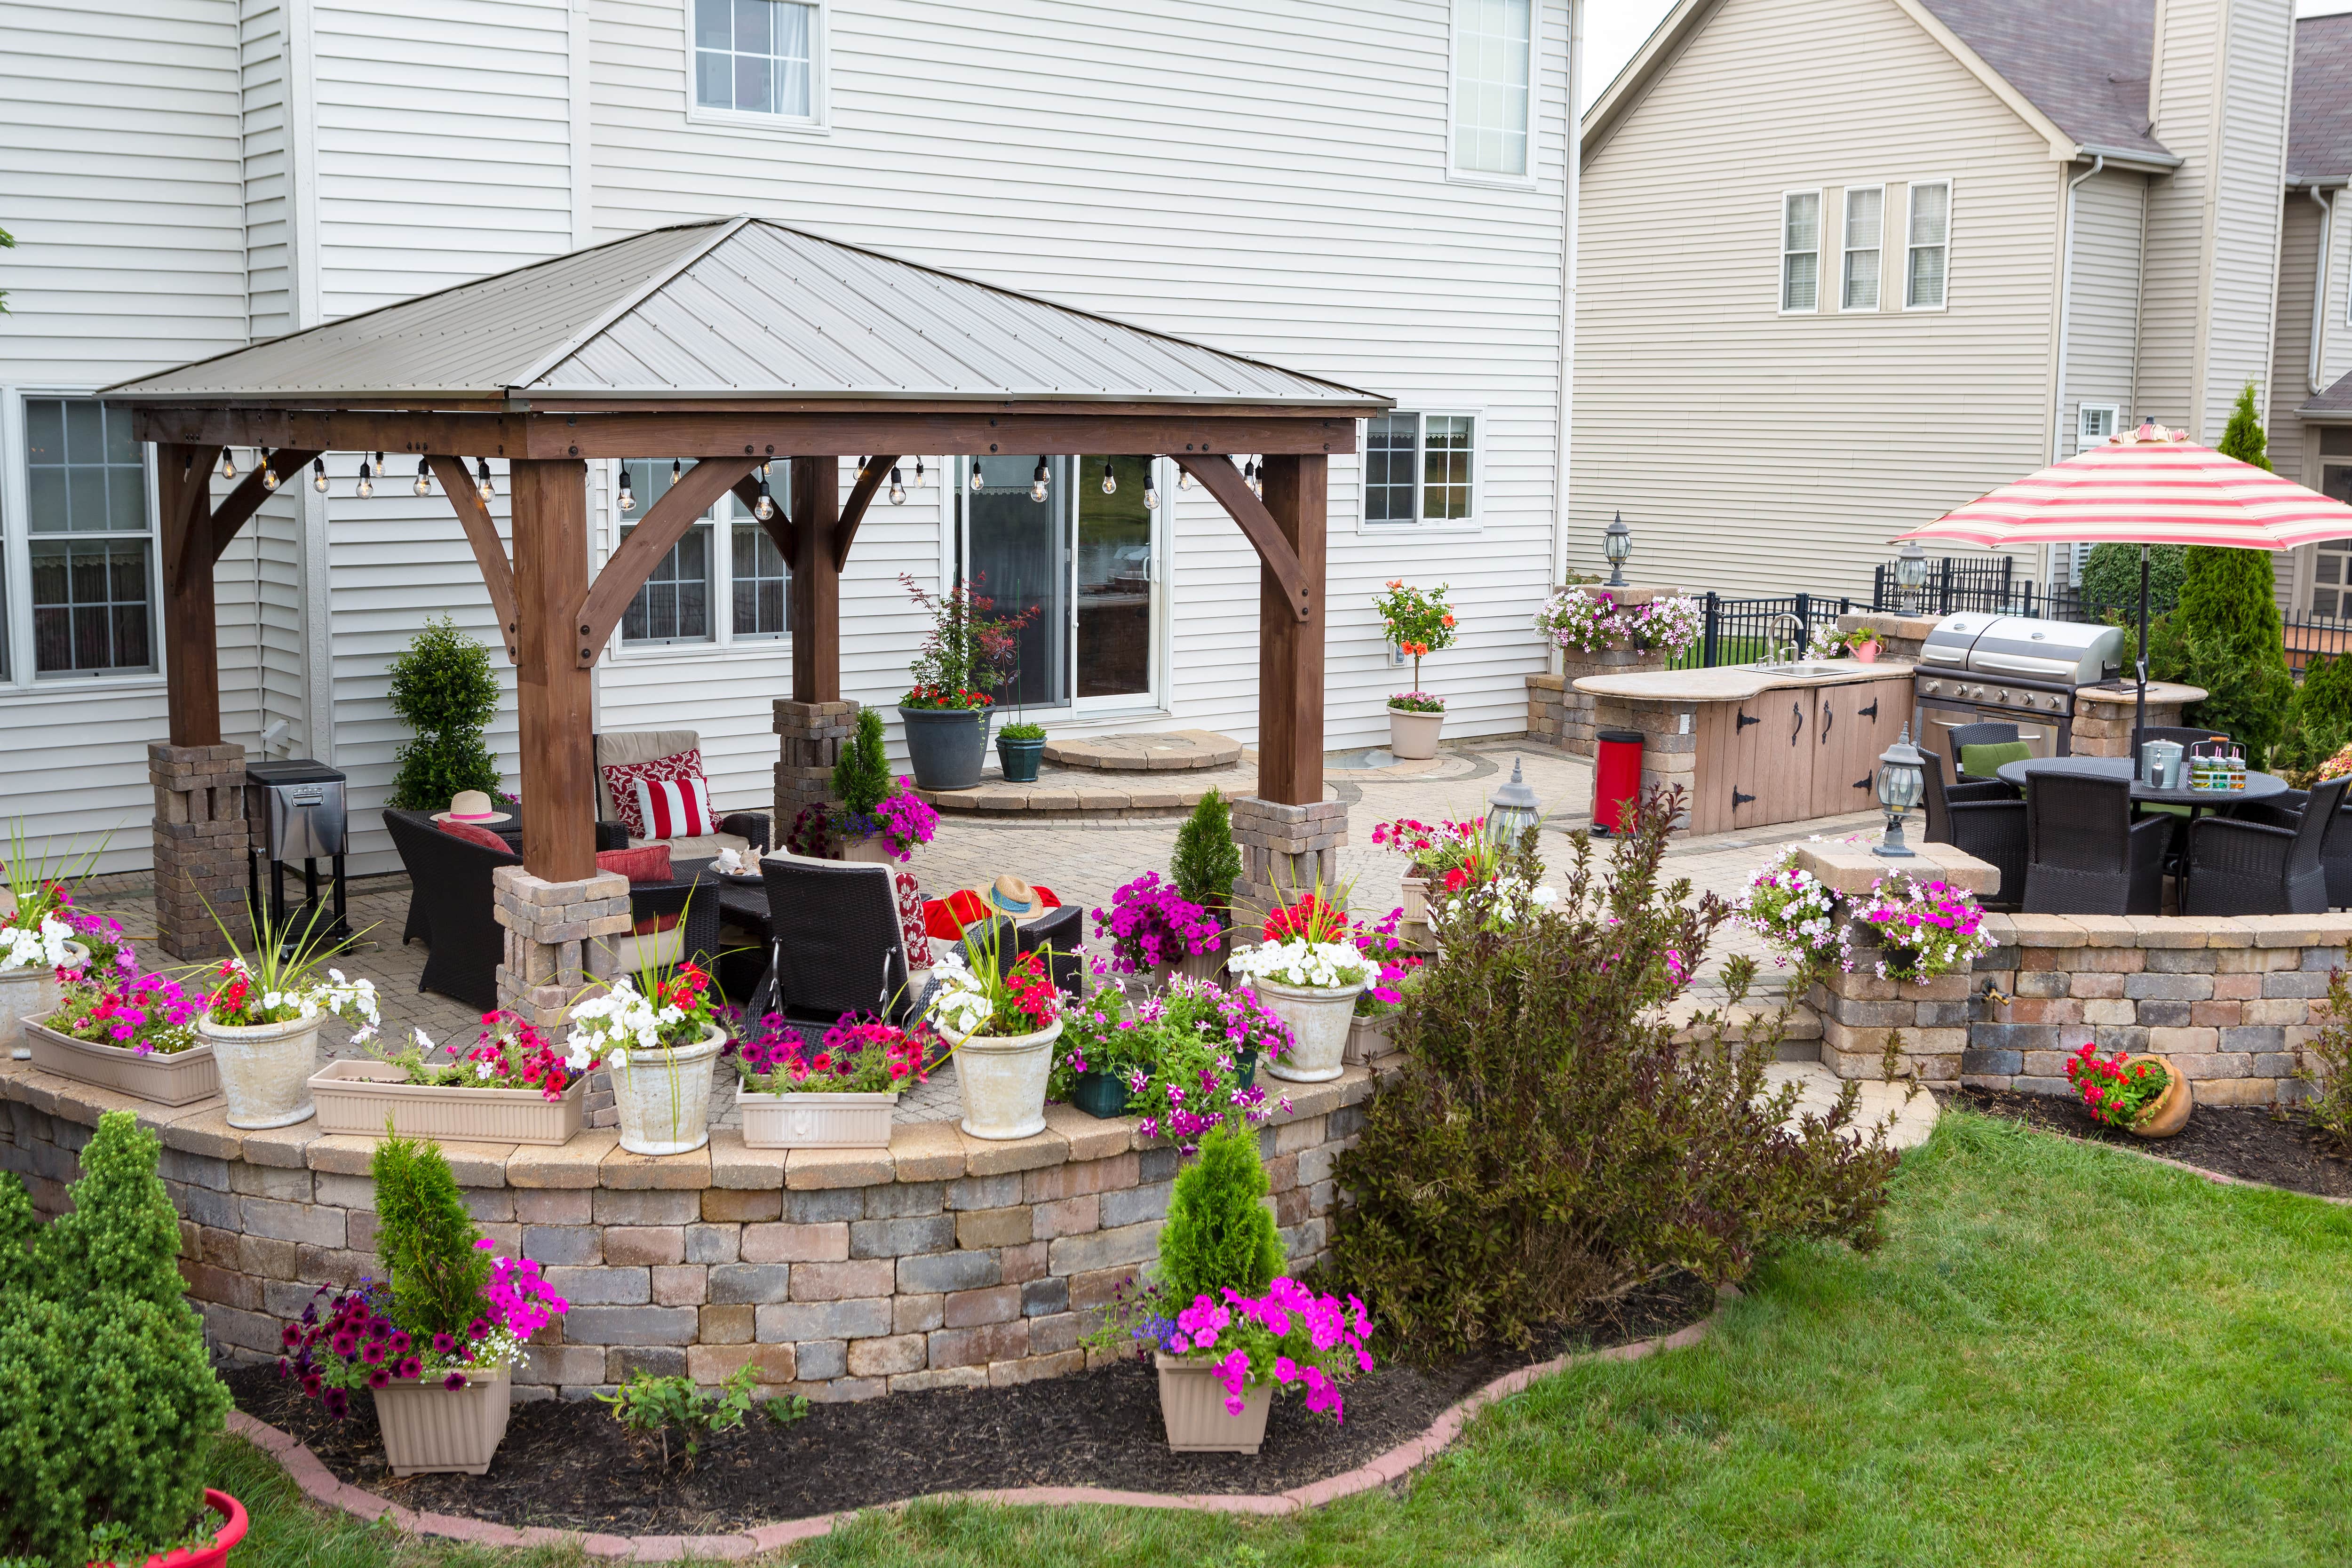
{"label": "double-hung window at far left, beside the leftmost gazebo post", "polygon": [[155,524],[129,409],[26,397],[33,672],[155,668]]}

